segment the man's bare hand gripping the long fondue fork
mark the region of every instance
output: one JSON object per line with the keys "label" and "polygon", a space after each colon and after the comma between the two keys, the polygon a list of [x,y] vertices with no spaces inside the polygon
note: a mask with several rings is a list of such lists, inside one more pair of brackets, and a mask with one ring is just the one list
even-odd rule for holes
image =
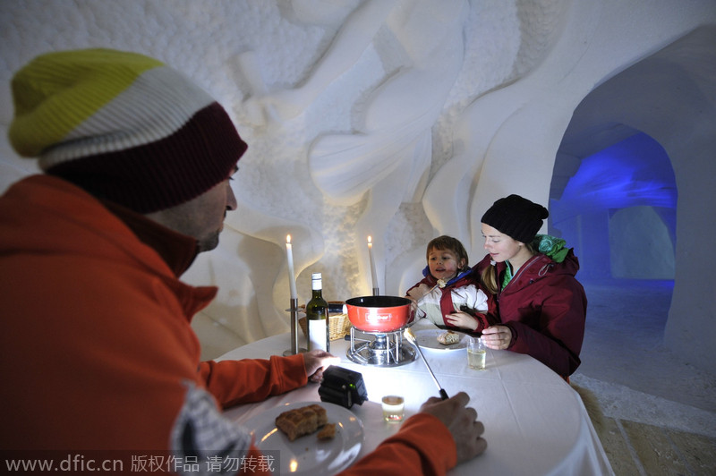
{"label": "man's bare hand gripping the long fondue fork", "polygon": [[470,397],[460,392],[447,400],[433,396],[422,404],[420,411],[430,413],[445,426],[453,436],[457,447],[457,463],[482,455],[487,448],[487,441],[481,436],[485,431],[481,421],[477,421],[477,412],[467,407]]}

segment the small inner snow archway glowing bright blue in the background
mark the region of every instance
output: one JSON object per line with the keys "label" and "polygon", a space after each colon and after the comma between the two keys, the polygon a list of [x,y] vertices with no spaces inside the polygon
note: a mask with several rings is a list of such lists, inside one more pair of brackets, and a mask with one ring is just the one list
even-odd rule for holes
{"label": "small inner snow archway glowing bright blue in the background", "polygon": [[634,132],[579,160],[554,188],[550,233],[575,247],[580,276],[674,278],[677,185],[656,140]]}

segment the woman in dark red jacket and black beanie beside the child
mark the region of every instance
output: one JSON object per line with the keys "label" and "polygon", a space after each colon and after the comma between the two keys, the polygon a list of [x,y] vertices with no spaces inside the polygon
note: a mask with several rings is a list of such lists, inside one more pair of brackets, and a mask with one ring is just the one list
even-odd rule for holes
{"label": "woman in dark red jacket and black beanie beside the child", "polygon": [[482,340],[490,349],[532,355],[568,378],[580,364],[587,299],[573,250],[537,234],[548,216],[519,195],[497,200],[482,216],[489,254],[475,268],[501,320],[482,331]]}

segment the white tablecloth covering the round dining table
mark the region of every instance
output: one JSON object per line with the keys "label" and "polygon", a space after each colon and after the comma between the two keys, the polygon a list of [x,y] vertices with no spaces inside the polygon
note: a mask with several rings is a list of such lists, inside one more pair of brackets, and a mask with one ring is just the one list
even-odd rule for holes
{"label": "white tablecloth covering the round dining table", "polygon": [[[341,367],[362,373],[368,401],[351,411],[362,420],[365,443],[362,455],[394,434],[399,424],[382,419],[383,395],[405,397],[405,418],[417,412],[438,388],[428,370],[417,359],[398,367],[355,364],[345,356],[349,346],[333,341],[331,353],[341,358]],[[268,337],[243,345],[217,360],[268,358],[290,348],[290,335]],[[552,370],[532,357],[509,351],[487,351],[487,368],[467,367],[465,349],[439,351],[423,348],[440,385],[447,395],[465,391],[470,406],[485,425],[488,448],[483,455],[460,464],[450,474],[509,475],[601,475],[613,474],[579,395]],[[277,405],[319,401],[317,384],[309,384],[260,404],[240,405],[226,411],[239,424]]]}

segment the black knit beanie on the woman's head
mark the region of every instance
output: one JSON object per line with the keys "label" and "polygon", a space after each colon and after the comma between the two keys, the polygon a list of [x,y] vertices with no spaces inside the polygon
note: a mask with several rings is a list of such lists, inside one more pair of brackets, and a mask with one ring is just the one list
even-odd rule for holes
{"label": "black knit beanie on the woman's head", "polygon": [[513,194],[497,200],[481,221],[518,242],[529,243],[549,216],[547,208]]}

